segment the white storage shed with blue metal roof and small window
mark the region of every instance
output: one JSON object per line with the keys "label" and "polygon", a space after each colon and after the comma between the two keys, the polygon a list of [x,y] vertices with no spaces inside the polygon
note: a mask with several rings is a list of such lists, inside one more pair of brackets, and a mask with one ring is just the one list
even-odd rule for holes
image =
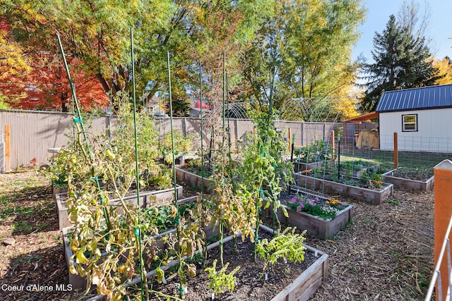
{"label": "white storage shed with blue metal roof and small window", "polygon": [[452,85],[383,92],[379,113],[380,149],[452,152]]}

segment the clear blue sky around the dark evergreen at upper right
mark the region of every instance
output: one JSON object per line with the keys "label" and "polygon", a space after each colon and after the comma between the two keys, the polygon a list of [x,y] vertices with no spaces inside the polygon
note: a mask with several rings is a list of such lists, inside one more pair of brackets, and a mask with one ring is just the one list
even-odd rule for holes
{"label": "clear blue sky around the dark evergreen at upper right", "polygon": [[[444,56],[452,58],[452,0],[415,0],[419,12],[425,11],[426,4],[429,7],[430,17],[427,35],[432,39],[429,44],[430,51],[436,59]],[[410,0],[407,0],[410,2]],[[398,16],[403,0],[364,0],[367,8],[366,20],[359,27],[361,37],[353,49],[352,59],[356,60],[362,54],[371,63],[371,50],[374,49],[375,32],[383,32],[388,23],[389,16]]]}

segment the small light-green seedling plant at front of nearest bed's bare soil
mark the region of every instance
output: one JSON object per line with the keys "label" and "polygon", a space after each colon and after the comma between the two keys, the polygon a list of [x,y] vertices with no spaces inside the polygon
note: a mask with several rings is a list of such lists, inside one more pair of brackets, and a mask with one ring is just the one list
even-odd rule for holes
{"label": "small light-green seedling plant at front of nearest bed's bare soil", "polygon": [[234,274],[239,271],[240,266],[237,266],[229,274],[226,273],[229,262],[227,262],[220,271],[217,271],[217,259],[212,263],[212,266],[206,268],[208,272],[208,278],[210,279],[209,289],[213,289],[215,295],[220,296],[220,294],[225,293],[227,290],[232,291],[235,288],[236,278]]}

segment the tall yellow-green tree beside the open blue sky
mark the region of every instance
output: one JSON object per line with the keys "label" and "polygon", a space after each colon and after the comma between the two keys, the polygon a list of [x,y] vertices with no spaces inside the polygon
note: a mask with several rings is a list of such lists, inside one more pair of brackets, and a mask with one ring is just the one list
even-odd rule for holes
{"label": "tall yellow-green tree beside the open blue sky", "polygon": [[342,97],[355,82],[352,45],[364,20],[362,1],[274,1],[273,14],[246,52],[244,80],[258,106],[270,98],[283,107],[289,99]]}

